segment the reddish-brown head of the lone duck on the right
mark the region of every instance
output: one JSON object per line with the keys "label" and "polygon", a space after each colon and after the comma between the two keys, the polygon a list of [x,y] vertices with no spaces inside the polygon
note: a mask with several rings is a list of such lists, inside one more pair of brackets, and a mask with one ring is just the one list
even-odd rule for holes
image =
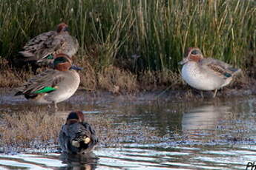
{"label": "reddish-brown head of the lone duck on the right", "polygon": [[188,61],[198,62],[203,59],[203,54],[199,48],[189,47],[186,52],[186,57],[183,58],[183,61],[180,61],[179,64],[186,64]]}

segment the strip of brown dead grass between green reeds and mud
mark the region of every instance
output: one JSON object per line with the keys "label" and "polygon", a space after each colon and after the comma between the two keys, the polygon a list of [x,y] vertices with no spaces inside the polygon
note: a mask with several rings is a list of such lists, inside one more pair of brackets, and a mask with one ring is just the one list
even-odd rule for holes
{"label": "strip of brown dead grass between green reeds and mud", "polygon": [[[93,65],[95,64],[94,59],[88,56],[77,56],[74,59],[74,63],[83,68],[79,71],[80,86],[88,91],[103,90],[115,95],[122,95],[145,91],[188,89],[188,85],[183,81],[180,73],[168,69],[161,71],[145,70],[135,73],[113,65],[99,69],[99,66]],[[38,69],[38,73],[45,69],[47,68]],[[21,86],[33,76],[30,67],[27,70],[11,67],[6,59],[0,58],[0,87]],[[255,72],[251,69],[245,69],[234,78],[232,84],[229,84],[227,88],[248,89],[254,82]]]}

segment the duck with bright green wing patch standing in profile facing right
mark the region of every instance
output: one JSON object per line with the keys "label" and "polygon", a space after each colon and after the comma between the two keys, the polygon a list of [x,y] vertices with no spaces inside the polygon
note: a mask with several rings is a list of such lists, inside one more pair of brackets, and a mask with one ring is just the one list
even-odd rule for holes
{"label": "duck with bright green wing patch standing in profile facing right", "polygon": [[80,77],[75,69],[80,68],[72,65],[71,59],[65,54],[56,55],[53,67],[19,87],[16,95],[24,95],[36,103],[53,103],[57,109],[57,103],[67,100],[78,89]]}

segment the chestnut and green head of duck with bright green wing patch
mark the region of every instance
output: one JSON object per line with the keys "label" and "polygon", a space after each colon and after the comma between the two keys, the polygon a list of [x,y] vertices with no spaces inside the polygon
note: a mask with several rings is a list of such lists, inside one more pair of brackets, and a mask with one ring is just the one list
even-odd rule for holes
{"label": "chestnut and green head of duck with bright green wing patch", "polygon": [[53,68],[59,71],[68,71],[69,69],[81,70],[82,68],[72,64],[71,58],[63,53],[57,54],[54,57]]}

